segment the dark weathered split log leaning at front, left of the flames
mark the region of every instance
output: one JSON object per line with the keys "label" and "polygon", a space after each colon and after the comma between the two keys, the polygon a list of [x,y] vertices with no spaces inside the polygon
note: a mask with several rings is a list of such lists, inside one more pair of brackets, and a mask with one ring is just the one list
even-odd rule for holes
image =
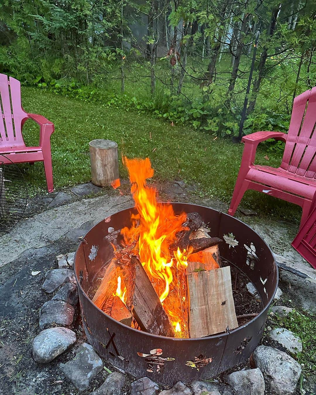
{"label": "dark weathered split log leaning at front, left of the flames", "polygon": [[154,335],[174,337],[175,331],[169,317],[137,256],[132,256],[130,264],[124,269],[126,306],[139,327]]}

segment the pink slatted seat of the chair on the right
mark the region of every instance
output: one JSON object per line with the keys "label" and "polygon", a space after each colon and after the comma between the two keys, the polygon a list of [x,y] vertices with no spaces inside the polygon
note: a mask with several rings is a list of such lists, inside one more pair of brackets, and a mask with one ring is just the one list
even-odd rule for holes
{"label": "pink slatted seat of the chair on the right", "polygon": [[271,188],[304,196],[312,200],[316,191],[316,180],[290,173],[280,167],[252,165],[246,180],[258,182]]}

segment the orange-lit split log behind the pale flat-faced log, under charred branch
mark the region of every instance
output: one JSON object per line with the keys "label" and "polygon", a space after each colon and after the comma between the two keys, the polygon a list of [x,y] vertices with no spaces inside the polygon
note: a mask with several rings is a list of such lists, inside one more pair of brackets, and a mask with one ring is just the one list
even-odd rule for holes
{"label": "orange-lit split log behind the pale flat-faced log, under charred branch", "polygon": [[[207,234],[204,228],[199,228],[197,231],[190,234],[190,239],[201,239],[205,237],[207,238],[210,236]],[[220,241],[222,242],[221,239]],[[217,269],[221,266],[218,244],[209,248],[205,248],[199,252],[195,252],[194,254],[190,254],[188,261],[205,263],[207,264],[206,270]],[[196,269],[196,267],[194,267],[194,269]]]}

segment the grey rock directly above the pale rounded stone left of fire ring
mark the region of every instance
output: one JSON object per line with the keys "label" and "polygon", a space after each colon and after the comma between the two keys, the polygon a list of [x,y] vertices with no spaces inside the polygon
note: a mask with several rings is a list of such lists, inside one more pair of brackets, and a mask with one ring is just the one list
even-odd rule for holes
{"label": "grey rock directly above the pale rounded stone left of fire ring", "polygon": [[68,326],[73,321],[74,313],[75,309],[69,303],[61,300],[49,300],[40,309],[40,328],[52,324]]}

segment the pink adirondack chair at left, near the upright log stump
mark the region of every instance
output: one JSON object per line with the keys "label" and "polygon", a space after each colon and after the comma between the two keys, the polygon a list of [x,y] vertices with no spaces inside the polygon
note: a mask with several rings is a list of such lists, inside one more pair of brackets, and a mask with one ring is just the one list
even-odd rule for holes
{"label": "pink adirondack chair at left, near the upright log stump", "polygon": [[[11,100],[10,100],[11,97]],[[21,103],[21,84],[15,78],[0,74],[0,162],[4,164],[44,162],[48,192],[53,192],[51,134],[54,124],[41,115],[28,114]],[[26,147],[23,124],[32,119],[40,125],[39,147]]]}

